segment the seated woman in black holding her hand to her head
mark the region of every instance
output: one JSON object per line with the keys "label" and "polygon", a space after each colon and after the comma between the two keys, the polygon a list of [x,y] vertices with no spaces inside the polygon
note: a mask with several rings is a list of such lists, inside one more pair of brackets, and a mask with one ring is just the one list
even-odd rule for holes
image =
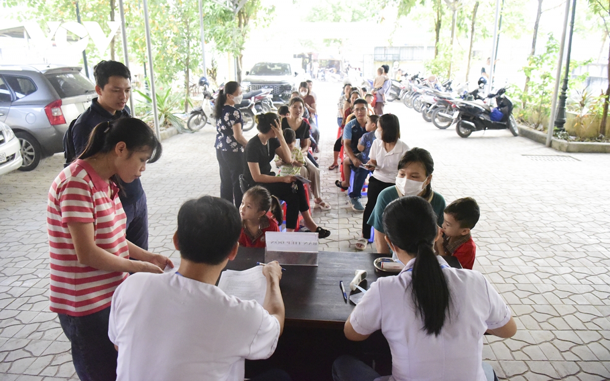
{"label": "seated woman in black holding her hand to her head", "polygon": [[275,176],[271,172],[271,160],[278,155],[284,162],[292,162],[290,148],[284,140],[275,113],[257,115],[257,135],[248,141],[245,148],[243,179],[249,185],[261,185],[271,194],[286,202],[286,230],[293,232],[297,226],[299,212],[307,229],[326,238],[331,232],[322,229],[314,222],[309,213],[309,200],[305,196],[303,183],[294,176]]}

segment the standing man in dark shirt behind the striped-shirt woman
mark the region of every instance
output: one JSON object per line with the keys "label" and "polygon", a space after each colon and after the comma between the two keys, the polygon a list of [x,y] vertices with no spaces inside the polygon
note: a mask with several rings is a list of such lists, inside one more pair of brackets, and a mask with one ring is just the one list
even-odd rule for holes
{"label": "standing man in dark shirt behind the striped-shirt woman", "polygon": [[[91,100],[91,106],[76,119],[72,127],[71,138],[76,157],[85,151],[89,135],[99,123],[131,116],[126,106],[131,94],[131,73],[127,66],[117,61],[101,61],[95,65],[93,73],[98,98]],[[127,240],[148,250],[148,209],[142,183],[140,179],[131,183],[121,181],[120,187],[119,196],[127,216]]]}

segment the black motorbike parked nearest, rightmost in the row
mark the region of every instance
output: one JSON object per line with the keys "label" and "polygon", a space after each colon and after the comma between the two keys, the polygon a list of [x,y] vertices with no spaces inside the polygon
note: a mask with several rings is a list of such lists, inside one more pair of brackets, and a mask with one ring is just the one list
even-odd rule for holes
{"label": "black motorbike parked nearest, rightmost in the row", "polygon": [[512,101],[505,93],[506,89],[500,88],[497,93],[487,96],[487,98],[495,98],[497,108],[503,115],[500,121],[493,121],[490,118],[492,108],[489,105],[473,101],[456,100],[453,123],[456,124],[458,135],[462,138],[467,138],[473,131],[508,129],[512,135],[518,136],[517,121],[512,116]]}

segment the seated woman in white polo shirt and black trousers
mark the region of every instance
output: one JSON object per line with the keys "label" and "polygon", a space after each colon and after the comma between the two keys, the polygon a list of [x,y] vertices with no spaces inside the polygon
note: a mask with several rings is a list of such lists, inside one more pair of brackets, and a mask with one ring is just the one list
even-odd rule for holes
{"label": "seated woman in white polo shirt and black trousers", "polygon": [[[385,114],[379,117],[375,130],[375,141],[371,145],[370,160],[367,164],[376,166],[375,171],[368,179],[367,206],[364,208],[362,218],[362,237],[356,242],[356,250],[364,250],[371,238],[371,226],[368,219],[375,209],[377,198],[382,190],[393,187],[398,175],[398,162],[409,146],[400,140],[400,123],[398,116]],[[366,165],[366,164],[365,164]],[[372,166],[367,167],[373,170]]]}

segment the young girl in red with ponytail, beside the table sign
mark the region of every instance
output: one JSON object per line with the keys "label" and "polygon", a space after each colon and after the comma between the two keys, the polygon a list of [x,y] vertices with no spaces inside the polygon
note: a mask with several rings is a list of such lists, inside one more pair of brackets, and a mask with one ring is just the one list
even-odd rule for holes
{"label": "young girl in red with ponytail, beside the table sign", "polygon": [[[267,212],[271,212],[273,218],[269,218]],[[258,185],[243,194],[239,214],[242,216],[239,246],[243,247],[265,247],[265,232],[279,232],[278,223],[284,221],[279,199]]]}

